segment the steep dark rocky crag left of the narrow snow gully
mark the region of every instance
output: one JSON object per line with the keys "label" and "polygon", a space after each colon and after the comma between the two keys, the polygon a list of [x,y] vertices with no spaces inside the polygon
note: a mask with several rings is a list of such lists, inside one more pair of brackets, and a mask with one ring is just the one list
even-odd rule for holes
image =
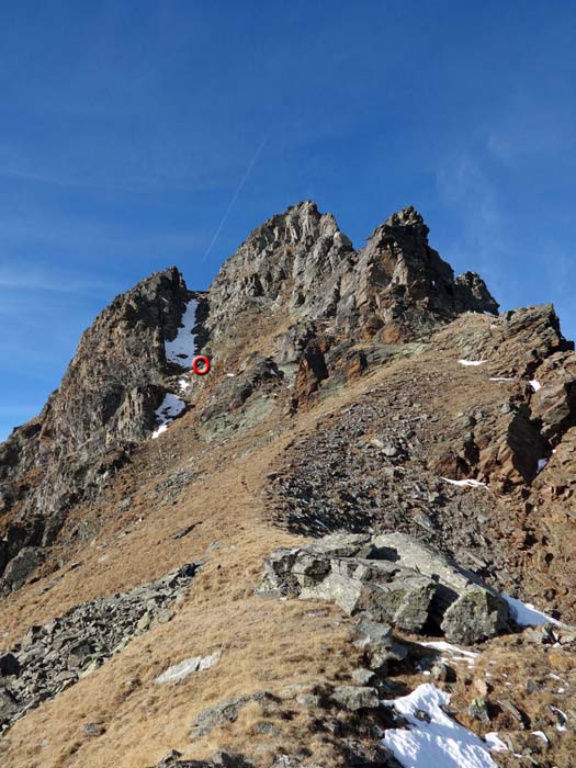
{"label": "steep dark rocky crag left of the narrow snow gully", "polygon": [[83,334],[42,413],[0,447],[0,566],[24,546],[52,543],[70,506],[149,436],[169,373],[165,341],[191,296],[176,268],[117,296]]}

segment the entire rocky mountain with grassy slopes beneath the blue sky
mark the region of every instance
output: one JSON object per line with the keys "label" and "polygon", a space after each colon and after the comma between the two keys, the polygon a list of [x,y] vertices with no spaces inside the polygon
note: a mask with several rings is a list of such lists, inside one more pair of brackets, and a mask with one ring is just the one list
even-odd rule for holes
{"label": "entire rocky mountain with grassy slopes beneath the blue sky", "polygon": [[576,352],[428,235],[300,203],[83,334],[0,445],[2,765],[576,765]]}

